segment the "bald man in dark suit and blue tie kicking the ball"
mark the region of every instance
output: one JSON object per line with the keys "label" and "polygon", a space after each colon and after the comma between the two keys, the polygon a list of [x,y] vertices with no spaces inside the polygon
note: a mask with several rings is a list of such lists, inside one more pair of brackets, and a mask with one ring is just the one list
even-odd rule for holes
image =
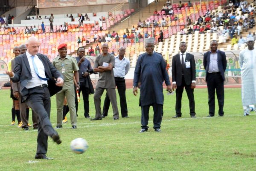
{"label": "bald man in dark suit and blue tie kicking the ball", "polygon": [[[22,101],[38,115],[38,146],[35,159],[52,159],[46,156],[48,136],[61,143],[58,133],[50,123],[50,96],[61,90],[63,76],[52,66],[47,56],[38,54],[40,43],[29,37],[26,53],[15,58],[14,72],[6,71],[13,82],[20,81]],[[53,80],[53,77],[57,80]],[[56,83],[55,83],[56,82]]]}

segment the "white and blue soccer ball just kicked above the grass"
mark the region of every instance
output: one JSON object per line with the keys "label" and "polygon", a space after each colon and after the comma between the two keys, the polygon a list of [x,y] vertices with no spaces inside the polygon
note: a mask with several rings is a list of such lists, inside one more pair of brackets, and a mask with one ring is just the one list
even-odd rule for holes
{"label": "white and blue soccer ball just kicked above the grass", "polygon": [[88,143],[83,138],[76,138],[70,143],[71,150],[76,154],[84,153],[88,148]]}

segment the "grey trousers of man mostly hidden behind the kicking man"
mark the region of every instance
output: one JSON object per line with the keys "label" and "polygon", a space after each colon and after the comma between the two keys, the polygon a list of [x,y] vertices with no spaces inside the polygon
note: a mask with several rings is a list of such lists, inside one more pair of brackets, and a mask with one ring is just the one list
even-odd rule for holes
{"label": "grey trousers of man mostly hidden behind the kicking man", "polygon": [[[19,103],[20,103],[20,118],[22,121],[22,126],[21,128],[28,127],[29,120],[26,118],[26,109],[28,106],[26,103],[21,103],[22,97],[21,94],[19,93]],[[38,116],[37,114],[32,110],[32,122],[33,122],[33,127],[38,128]]]}

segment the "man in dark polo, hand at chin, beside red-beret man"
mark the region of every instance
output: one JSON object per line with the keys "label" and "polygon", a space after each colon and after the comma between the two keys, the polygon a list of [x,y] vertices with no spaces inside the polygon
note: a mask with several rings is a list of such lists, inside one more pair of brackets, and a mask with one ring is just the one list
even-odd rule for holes
{"label": "man in dark polo, hand at chin, beside red-beret man", "polygon": [[79,96],[82,91],[83,100],[84,100],[84,117],[91,118],[89,115],[89,94],[94,93],[93,84],[90,80],[90,73],[87,70],[92,70],[92,66],[90,61],[85,58],[85,49],[84,47],[79,47],[77,49],[78,57],[76,57],[76,61],[79,67]]}

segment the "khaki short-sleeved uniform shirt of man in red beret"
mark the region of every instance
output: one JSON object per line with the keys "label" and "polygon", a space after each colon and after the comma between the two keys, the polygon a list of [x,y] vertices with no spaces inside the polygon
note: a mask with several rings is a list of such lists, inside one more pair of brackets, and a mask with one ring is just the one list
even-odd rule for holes
{"label": "khaki short-sleeved uniform shirt of man in red beret", "polygon": [[61,72],[64,77],[64,90],[70,89],[74,87],[74,72],[79,71],[79,67],[77,65],[76,59],[74,57],[70,57],[67,55],[64,60],[61,57],[56,57],[52,60],[52,65]]}

